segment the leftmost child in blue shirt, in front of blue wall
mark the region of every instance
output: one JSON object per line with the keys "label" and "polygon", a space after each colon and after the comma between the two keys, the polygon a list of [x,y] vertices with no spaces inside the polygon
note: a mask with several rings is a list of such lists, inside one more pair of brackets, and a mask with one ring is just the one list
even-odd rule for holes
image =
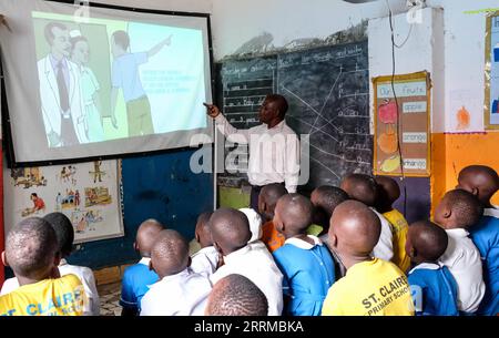
{"label": "leftmost child in blue shirt, in front of blue wall", "polygon": [[133,248],[141,256],[139,263],[129,266],[123,273],[121,281],[120,305],[123,307],[122,316],[138,316],[141,310],[141,300],[149,286],[156,283],[159,277],[150,270],[151,248],[157,234],[164,226],[156,219],[145,219],[139,226]]}

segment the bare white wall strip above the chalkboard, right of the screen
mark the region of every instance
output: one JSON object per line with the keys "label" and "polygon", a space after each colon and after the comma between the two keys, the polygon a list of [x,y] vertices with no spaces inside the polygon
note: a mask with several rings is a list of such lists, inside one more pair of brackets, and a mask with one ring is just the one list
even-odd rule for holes
{"label": "bare white wall strip above the chalkboard, right of the screen", "polygon": [[[405,1],[389,3],[395,13],[405,9]],[[264,32],[272,35],[269,43],[283,47],[295,39],[324,39],[361,20],[387,14],[385,0],[363,4],[339,0],[213,0],[214,57],[220,60],[234,53]]]}

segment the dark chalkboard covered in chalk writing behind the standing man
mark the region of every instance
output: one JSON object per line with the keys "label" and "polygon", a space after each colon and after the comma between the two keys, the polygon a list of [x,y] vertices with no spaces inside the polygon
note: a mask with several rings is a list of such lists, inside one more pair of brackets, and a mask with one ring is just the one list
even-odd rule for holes
{"label": "dark chalkboard covered in chalk writing behind the standing man", "polygon": [[[309,153],[302,162],[309,161],[310,177],[302,190],[338,185],[350,172],[371,173],[367,41],[225,60],[217,69],[218,105],[235,127],[259,123],[266,94],[286,98],[286,123],[298,136],[309,135]],[[220,175],[218,184],[243,184],[247,164],[237,166],[240,173]]]}

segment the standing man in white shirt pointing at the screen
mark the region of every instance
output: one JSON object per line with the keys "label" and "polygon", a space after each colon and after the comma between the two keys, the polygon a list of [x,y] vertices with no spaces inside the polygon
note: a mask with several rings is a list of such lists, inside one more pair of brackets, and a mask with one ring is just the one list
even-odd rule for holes
{"label": "standing man in white shirt pointing at the screen", "polygon": [[281,183],[288,193],[296,193],[299,140],[284,120],[288,105],[283,95],[267,95],[258,112],[262,124],[247,130],[232,126],[216,105],[205,103],[205,106],[228,141],[249,145],[247,177],[252,185],[252,208],[258,211],[258,195],[264,185]]}

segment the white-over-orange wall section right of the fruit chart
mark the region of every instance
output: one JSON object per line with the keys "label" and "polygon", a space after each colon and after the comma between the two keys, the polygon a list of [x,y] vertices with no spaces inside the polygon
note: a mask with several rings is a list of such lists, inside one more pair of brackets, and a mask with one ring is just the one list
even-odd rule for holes
{"label": "white-over-orange wall section right of the fruit chart", "polygon": [[[485,164],[499,171],[495,154],[498,131],[485,132],[485,29],[486,10],[499,10],[497,0],[429,0],[444,9],[445,95],[439,127],[432,132],[432,208],[445,192],[457,184],[457,174],[469,164]],[[457,113],[469,112],[470,123],[458,129]],[[434,115],[435,116],[435,115]],[[434,125],[435,126],[435,125]],[[492,199],[499,204],[499,194]]]}

